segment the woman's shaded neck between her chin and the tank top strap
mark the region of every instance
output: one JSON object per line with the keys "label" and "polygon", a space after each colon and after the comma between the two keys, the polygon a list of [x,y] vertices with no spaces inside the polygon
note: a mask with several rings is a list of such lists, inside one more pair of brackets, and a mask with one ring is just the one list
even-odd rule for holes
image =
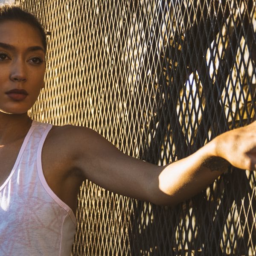
{"label": "woman's shaded neck between her chin and the tank top strap", "polygon": [[27,113],[7,114],[0,112],[0,145],[6,145],[23,137],[31,126]]}

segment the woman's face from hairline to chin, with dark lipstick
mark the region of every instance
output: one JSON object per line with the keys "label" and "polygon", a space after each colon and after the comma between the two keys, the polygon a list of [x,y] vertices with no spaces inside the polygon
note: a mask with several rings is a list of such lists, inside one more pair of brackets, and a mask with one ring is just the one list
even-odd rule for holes
{"label": "woman's face from hairline to chin, with dark lipstick", "polygon": [[44,87],[45,49],[27,23],[0,23],[0,112],[26,113]]}

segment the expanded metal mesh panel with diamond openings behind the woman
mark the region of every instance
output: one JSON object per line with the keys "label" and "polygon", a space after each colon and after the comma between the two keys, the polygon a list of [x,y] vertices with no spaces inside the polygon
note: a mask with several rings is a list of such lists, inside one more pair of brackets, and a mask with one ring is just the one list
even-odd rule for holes
{"label": "expanded metal mesh panel with diamond openings behind the woman", "polygon": [[[155,164],[255,119],[254,0],[23,0],[49,31],[39,121],[84,125]],[[175,208],[86,181],[73,255],[255,255],[256,173]]]}

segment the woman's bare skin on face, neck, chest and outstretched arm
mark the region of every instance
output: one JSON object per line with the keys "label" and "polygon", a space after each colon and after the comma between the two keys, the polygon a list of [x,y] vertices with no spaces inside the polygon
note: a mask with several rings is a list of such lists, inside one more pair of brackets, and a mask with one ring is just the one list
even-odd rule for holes
{"label": "woman's bare skin on face, neck, chest and outstretched arm", "polygon": [[[30,128],[27,111],[44,87],[44,58],[35,28],[17,21],[0,23],[0,185],[9,176]],[[22,100],[6,95],[17,88],[28,95]],[[50,188],[74,212],[85,179],[121,195],[173,206],[221,175],[222,158],[241,169],[255,170],[255,131],[253,122],[218,136],[183,160],[155,166],[123,154],[89,128],[53,126],[44,143],[42,167]]]}

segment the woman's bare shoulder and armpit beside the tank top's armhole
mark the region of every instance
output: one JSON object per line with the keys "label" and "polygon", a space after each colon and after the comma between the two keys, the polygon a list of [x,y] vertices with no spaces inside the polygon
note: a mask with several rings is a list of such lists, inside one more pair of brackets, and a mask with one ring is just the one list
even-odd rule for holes
{"label": "woman's bare shoulder and armpit beside the tank top's armhole", "polygon": [[[72,125],[53,126],[45,140],[42,150],[42,169],[48,185],[73,211],[76,211],[76,198],[79,187],[85,179],[82,168],[77,162],[84,152],[86,158],[87,147],[81,148],[84,141],[92,141],[92,134],[88,128]],[[84,162],[84,169],[88,169],[88,161]]]}

